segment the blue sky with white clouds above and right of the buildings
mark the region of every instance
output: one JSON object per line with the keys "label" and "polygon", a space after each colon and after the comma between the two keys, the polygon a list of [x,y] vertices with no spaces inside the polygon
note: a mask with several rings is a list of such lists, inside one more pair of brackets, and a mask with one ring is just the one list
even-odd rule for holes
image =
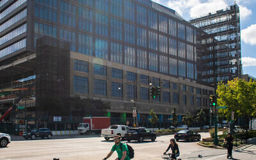
{"label": "blue sky with white clouds above and right of the buildings", "polygon": [[[222,10],[234,0],[152,0],[172,8],[185,20]],[[256,0],[236,0],[240,10],[243,74],[256,77]]]}

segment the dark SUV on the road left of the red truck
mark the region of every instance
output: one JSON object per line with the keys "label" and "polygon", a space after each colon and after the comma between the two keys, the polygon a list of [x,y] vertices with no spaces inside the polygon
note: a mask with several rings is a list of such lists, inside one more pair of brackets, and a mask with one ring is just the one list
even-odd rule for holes
{"label": "dark SUV on the road left of the red truck", "polygon": [[27,140],[28,138],[31,138],[31,140],[34,140],[35,138],[45,138],[48,139],[52,138],[52,131],[47,128],[40,128],[40,129],[33,129],[31,132],[24,132],[23,137]]}

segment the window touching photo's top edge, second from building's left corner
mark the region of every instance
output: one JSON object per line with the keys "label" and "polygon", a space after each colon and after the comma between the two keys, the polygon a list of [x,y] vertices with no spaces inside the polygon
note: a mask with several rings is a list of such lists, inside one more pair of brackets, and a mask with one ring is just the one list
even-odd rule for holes
{"label": "window touching photo's top edge, second from building's left corner", "polygon": [[60,1],[60,24],[76,28],[76,6]]}

